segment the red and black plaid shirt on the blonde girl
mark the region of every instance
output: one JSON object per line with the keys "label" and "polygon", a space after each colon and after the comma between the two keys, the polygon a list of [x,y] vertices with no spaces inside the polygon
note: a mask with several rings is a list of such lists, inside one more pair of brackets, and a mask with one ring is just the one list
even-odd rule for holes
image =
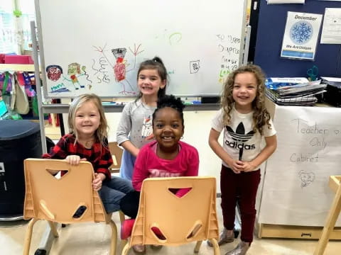
{"label": "red and black plaid shirt on the blonde girl", "polygon": [[43,159],[65,159],[69,155],[78,155],[81,159],[87,159],[92,164],[95,173],[104,174],[108,180],[112,178],[109,171],[109,166],[112,165],[112,154],[109,148],[103,147],[99,141],[96,141],[91,149],[87,149],[79,142],[75,144],[74,135],[67,134],[50,149],[50,153],[43,154]]}

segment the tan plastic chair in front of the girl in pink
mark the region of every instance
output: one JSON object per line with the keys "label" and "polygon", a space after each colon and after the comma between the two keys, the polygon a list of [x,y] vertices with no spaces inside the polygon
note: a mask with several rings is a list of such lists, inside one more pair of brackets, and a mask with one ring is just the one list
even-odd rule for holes
{"label": "tan plastic chair in front of the girl in pink", "polygon": [[[145,179],[141,188],[139,212],[130,241],[122,250],[126,255],[135,244],[175,246],[210,239],[214,254],[220,254],[214,177],[171,177]],[[190,191],[179,198],[179,188]],[[162,233],[155,234],[153,227]]]}

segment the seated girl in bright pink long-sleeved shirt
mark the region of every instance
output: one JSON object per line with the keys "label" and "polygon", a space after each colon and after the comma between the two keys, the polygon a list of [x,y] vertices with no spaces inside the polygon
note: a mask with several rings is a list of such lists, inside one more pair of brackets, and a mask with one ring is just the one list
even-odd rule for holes
{"label": "seated girl in bright pink long-sleeved shirt", "polygon": [[[197,176],[199,155],[197,149],[181,142],[183,137],[183,108],[180,99],[164,96],[158,101],[153,113],[153,136],[156,141],[141,148],[135,162],[133,186],[135,192],[127,194],[121,200],[121,210],[125,215],[136,218],[139,210],[139,198],[142,182],[151,177]],[[176,196],[183,196],[186,189],[176,191]],[[121,238],[129,237],[134,220],[126,220],[121,227]],[[144,252],[145,247],[136,245],[137,252]]]}

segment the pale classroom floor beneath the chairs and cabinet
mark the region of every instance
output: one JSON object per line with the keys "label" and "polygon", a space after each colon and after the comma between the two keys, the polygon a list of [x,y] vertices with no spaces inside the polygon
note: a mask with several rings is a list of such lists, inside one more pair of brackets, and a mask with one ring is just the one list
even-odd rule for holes
{"label": "pale classroom floor beneath the chairs and cabinet", "polygon": [[[221,212],[219,212],[221,215]],[[114,213],[114,222],[119,227],[119,215]],[[219,219],[220,224],[222,219]],[[18,255],[23,251],[23,240],[26,232],[27,222],[0,222],[0,254]],[[33,237],[31,243],[31,253],[34,254],[40,244],[40,238],[45,232],[46,222],[38,221],[33,229]],[[60,237],[55,239],[52,244],[50,255],[104,255],[109,254],[109,242],[111,230],[109,225],[104,223],[83,223],[77,225],[69,225],[65,228],[58,227]],[[239,242],[238,239],[232,244],[224,244],[221,246],[222,255]],[[257,239],[255,237],[248,255],[310,255],[313,254],[317,241],[298,240],[298,239]],[[119,245],[119,241],[118,241]],[[165,255],[190,255],[193,254],[195,244],[187,244],[183,246],[163,247],[158,251],[147,248],[147,254],[165,254]],[[341,242],[331,241],[328,243],[325,254],[340,255]],[[119,250],[119,249],[118,249]],[[119,254],[119,251],[117,251]],[[134,254],[134,251],[129,251]],[[212,249],[202,243],[199,254],[213,254]]]}

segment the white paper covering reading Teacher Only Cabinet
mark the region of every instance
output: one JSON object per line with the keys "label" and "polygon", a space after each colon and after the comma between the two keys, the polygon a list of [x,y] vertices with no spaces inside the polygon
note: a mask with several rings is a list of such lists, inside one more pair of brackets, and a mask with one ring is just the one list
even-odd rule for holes
{"label": "white paper covering reading Teacher Only Cabinet", "polygon": [[278,145],[266,163],[259,222],[324,226],[335,196],[329,177],[341,175],[340,116],[340,108],[276,106]]}

